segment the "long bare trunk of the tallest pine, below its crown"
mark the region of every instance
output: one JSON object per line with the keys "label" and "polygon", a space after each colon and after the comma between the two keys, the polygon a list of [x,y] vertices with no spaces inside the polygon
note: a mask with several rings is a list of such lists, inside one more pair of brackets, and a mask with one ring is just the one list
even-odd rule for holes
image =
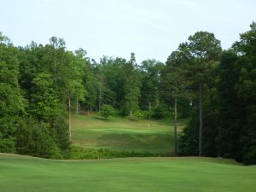
{"label": "long bare trunk of the tallest pine, below its crown", "polygon": [[202,129],[203,129],[203,121],[202,121],[202,85],[199,85],[199,156],[202,154],[201,146],[202,146]]}

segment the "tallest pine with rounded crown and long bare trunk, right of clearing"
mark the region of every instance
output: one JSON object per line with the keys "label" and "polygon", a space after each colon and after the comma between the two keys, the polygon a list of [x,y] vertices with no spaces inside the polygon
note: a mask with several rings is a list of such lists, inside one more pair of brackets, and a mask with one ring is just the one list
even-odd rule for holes
{"label": "tallest pine with rounded crown and long bare trunk, right of clearing", "polygon": [[191,61],[187,65],[187,79],[195,84],[199,99],[199,156],[202,155],[203,137],[203,95],[207,84],[211,82],[211,70],[221,53],[220,41],[210,32],[195,32],[184,44],[189,50]]}

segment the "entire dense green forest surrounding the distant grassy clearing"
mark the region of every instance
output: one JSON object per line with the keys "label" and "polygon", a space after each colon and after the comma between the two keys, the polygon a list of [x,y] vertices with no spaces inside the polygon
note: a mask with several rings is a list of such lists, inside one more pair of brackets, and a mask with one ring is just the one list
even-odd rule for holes
{"label": "entire dense green forest surrounding the distant grassy clearing", "polygon": [[[4,34],[5,35],[5,34]],[[62,38],[15,47],[0,33],[0,152],[68,158],[72,113],[189,119],[176,155],[256,164],[256,23],[223,50],[195,32],[166,63],[67,50]]]}

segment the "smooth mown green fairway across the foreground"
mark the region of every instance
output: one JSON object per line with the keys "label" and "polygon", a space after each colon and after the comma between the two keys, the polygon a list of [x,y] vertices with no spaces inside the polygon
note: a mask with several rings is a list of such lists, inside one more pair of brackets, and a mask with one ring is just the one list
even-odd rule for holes
{"label": "smooth mown green fairway across the foreground", "polygon": [[255,166],[211,158],[44,160],[0,154],[3,192],[255,192]]}

